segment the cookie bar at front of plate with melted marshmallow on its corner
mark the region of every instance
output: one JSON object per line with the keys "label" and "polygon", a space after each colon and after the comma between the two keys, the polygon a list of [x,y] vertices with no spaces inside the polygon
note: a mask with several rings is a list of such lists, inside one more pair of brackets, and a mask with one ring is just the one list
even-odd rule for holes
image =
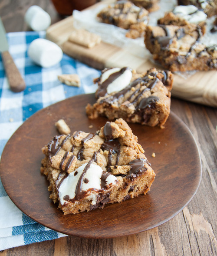
{"label": "cookie bar at front of plate with melted marshmallow on its corner", "polygon": [[41,173],[64,214],[103,208],[146,194],[155,179],[144,149],[123,119],[95,134],[55,136],[42,148]]}

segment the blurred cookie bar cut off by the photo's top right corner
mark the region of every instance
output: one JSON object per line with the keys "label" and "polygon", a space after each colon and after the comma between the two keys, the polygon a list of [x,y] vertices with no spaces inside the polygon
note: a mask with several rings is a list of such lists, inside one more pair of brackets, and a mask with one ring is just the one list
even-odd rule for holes
{"label": "blurred cookie bar cut off by the photo's top right corner", "polygon": [[208,17],[217,15],[217,0],[178,0],[178,5],[194,5],[203,10]]}

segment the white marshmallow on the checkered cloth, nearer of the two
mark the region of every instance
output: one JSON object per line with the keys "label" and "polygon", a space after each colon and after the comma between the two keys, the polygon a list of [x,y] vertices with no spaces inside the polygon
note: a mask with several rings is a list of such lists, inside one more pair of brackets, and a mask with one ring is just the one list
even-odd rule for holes
{"label": "white marshmallow on the checkered cloth, nearer of the two", "polygon": [[32,41],[28,56],[41,67],[51,67],[62,60],[62,49],[55,43],[38,38]]}

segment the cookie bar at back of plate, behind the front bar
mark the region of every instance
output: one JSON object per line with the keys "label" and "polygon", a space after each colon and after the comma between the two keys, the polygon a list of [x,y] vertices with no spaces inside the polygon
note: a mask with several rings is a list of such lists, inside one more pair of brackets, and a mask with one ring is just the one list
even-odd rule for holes
{"label": "cookie bar at back of plate, behind the front bar", "polygon": [[173,74],[151,68],[146,74],[136,74],[129,67],[102,71],[98,83],[96,102],[86,106],[89,118],[99,115],[109,120],[123,118],[142,125],[160,126],[170,114]]}

